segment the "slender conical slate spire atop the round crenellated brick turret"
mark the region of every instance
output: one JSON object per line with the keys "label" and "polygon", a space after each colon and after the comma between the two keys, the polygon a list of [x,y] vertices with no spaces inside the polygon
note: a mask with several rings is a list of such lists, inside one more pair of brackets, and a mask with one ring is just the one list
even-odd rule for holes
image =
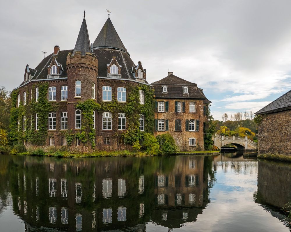
{"label": "slender conical slate spire atop the round crenellated brick turret", "polygon": [[73,51],[73,55],[75,52],[81,52],[82,56],[86,56],[86,52],[91,53],[91,46],[90,46],[90,40],[88,35],[88,29],[85,19],[85,11],[84,11],[84,19],[79,31],[79,35],[77,38],[77,42]]}

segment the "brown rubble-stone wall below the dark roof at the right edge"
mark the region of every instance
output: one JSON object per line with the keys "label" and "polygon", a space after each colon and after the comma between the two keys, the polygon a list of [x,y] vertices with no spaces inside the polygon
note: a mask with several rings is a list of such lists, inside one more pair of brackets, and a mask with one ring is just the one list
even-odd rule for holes
{"label": "brown rubble-stone wall below the dark roof at the right edge", "polygon": [[258,126],[259,154],[291,155],[291,112],[262,115]]}

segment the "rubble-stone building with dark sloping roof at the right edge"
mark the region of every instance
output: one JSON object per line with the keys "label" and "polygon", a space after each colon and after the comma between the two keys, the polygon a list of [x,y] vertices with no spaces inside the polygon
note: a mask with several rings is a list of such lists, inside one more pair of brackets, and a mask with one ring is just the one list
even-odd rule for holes
{"label": "rubble-stone building with dark sloping roof at the right edge", "polygon": [[291,154],[291,91],[255,113],[260,154]]}

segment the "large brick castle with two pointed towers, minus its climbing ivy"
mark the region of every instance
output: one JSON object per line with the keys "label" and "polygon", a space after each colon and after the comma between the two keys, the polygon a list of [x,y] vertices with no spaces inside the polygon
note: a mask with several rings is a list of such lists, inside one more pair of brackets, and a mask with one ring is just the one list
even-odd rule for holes
{"label": "large brick castle with two pointed towers, minus its climbing ivy", "polygon": [[[25,144],[30,144],[25,136],[28,130],[36,134],[40,131],[40,113],[30,109],[38,103],[43,84],[47,84],[46,98],[52,107],[45,116],[47,125],[44,127],[48,132],[43,145],[65,146],[68,145],[66,133],[82,132],[84,115],[76,106],[88,99],[101,105],[99,111],[93,111],[93,125],[90,125],[95,129],[98,149],[128,148],[122,134],[126,133],[128,123],[132,121],[139,123],[137,127],[141,131],[152,131],[152,125],[148,127],[145,123],[147,115],[142,112],[142,105],[147,100],[145,92],[150,89],[146,70],[140,61],[137,64],[132,61],[109,17],[94,43],[90,44],[84,13],[74,49],[60,50],[59,46],[54,46],[54,52],[36,68],[26,65],[24,81],[15,89],[17,99],[13,106],[24,108],[25,113],[19,113],[15,125],[18,124],[18,132],[23,133]],[[136,91],[139,97],[134,99],[134,104],[140,104],[141,111],[127,114],[122,109],[127,107],[127,99]],[[80,148],[86,144],[75,137],[71,145],[82,151]]]}

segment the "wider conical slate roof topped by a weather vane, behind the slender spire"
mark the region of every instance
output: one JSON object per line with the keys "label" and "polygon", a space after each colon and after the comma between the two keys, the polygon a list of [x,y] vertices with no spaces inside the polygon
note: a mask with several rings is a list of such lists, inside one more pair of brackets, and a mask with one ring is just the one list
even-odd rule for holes
{"label": "wider conical slate roof topped by a weather vane, behind the slender spire", "polygon": [[123,42],[119,38],[110,18],[108,17],[99,35],[93,43],[94,48],[115,48],[126,52]]}

